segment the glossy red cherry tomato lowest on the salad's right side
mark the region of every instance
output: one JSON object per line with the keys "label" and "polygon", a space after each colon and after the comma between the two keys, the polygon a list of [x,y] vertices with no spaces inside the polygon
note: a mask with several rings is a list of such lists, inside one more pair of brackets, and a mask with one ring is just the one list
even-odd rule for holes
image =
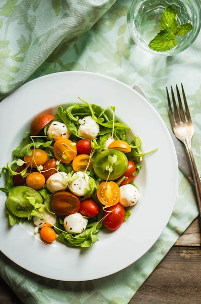
{"label": "glossy red cherry tomato lowest on the salad's right side", "polygon": [[110,230],[117,230],[124,221],[125,218],[125,209],[121,204],[116,204],[114,206],[110,206],[106,208],[107,211],[113,211],[109,213],[104,211],[103,217],[106,216],[103,220],[104,226],[106,226]]}

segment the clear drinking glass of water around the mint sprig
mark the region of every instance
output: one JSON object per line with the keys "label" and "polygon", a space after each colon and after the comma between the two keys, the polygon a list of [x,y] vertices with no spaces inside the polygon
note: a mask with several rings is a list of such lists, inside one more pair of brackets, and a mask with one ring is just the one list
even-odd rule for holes
{"label": "clear drinking glass of water around the mint sprig", "polygon": [[[192,23],[193,29],[184,36],[176,36],[177,45],[166,52],[148,47],[161,30],[161,15],[166,7],[177,11],[177,23]],[[159,55],[171,56],[187,49],[196,39],[201,26],[199,0],[133,0],[128,11],[128,27],[135,43],[142,49]]]}

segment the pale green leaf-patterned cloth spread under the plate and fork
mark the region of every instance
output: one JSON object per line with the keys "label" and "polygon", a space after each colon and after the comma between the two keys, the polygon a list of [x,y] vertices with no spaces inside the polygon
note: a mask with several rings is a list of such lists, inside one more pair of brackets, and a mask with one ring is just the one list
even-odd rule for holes
{"label": "pale green leaf-patterned cloth spread under the plate and fork", "polygon": [[[127,29],[129,3],[1,1],[0,96],[11,93],[27,79],[48,73],[92,71],[131,87],[140,85],[170,125],[165,86],[182,82],[195,128],[193,153],[201,170],[201,34],[190,48],[174,57],[145,53],[134,45]],[[191,186],[180,172],[178,196],[166,229],[130,267],[94,281],[60,282],[31,274],[1,254],[0,274],[27,304],[127,304],[197,213]]]}

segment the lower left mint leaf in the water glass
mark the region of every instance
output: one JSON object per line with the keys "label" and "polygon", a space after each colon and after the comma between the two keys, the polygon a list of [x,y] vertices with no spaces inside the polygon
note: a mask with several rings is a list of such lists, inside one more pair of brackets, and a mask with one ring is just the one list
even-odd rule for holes
{"label": "lower left mint leaf in the water glass", "polygon": [[157,52],[165,52],[173,49],[177,44],[172,28],[161,30],[149,43],[148,47]]}

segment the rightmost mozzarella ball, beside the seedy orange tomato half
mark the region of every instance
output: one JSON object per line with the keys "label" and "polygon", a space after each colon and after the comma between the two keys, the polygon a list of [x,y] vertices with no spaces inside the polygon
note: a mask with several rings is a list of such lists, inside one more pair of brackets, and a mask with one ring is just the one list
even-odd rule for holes
{"label": "rightmost mozzarella ball, beside the seedy orange tomato half", "polygon": [[120,187],[121,197],[120,197],[120,204],[124,207],[133,206],[137,204],[140,194],[139,190],[131,185],[127,184]]}

